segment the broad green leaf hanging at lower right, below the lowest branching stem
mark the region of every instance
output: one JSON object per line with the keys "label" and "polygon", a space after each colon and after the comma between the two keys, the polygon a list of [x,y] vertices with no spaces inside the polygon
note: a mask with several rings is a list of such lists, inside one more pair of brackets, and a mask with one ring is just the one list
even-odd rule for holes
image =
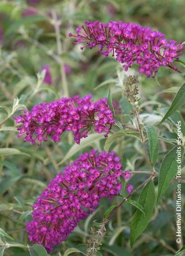
{"label": "broad green leaf hanging at lower right, below the lowest branching stem", "polygon": [[134,245],[134,242],[139,237],[139,235],[146,229],[148,222],[153,214],[153,208],[155,205],[155,189],[153,181],[150,180],[143,190],[141,191],[139,197],[139,204],[143,206],[143,209],[146,213],[142,213],[139,209],[136,210],[132,223],[130,226],[130,246],[131,248]]}

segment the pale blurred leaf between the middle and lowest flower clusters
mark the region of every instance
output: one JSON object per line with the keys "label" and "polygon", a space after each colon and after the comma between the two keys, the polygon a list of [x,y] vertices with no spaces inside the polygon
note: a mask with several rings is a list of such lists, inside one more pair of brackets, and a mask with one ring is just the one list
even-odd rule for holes
{"label": "pale blurred leaf between the middle and lowest flower clusters", "polygon": [[95,141],[104,139],[104,135],[99,133],[92,133],[87,138],[82,138],[80,145],[73,144],[72,147],[69,149],[67,154],[65,154],[64,158],[58,163],[58,166],[63,164],[65,161],[67,161],[69,158],[71,158],[74,154],[79,152],[80,150],[84,149],[85,147],[88,147],[92,145]]}

